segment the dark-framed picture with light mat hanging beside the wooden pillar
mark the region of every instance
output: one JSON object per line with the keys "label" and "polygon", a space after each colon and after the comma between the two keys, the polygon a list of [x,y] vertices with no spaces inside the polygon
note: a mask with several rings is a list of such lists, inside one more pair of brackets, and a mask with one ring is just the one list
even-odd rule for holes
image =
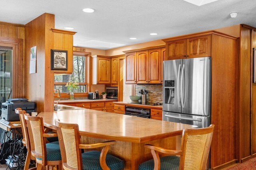
{"label": "dark-framed picture with light mat hanging beside the wooden pillar", "polygon": [[68,51],[51,49],[51,70],[68,70]]}

